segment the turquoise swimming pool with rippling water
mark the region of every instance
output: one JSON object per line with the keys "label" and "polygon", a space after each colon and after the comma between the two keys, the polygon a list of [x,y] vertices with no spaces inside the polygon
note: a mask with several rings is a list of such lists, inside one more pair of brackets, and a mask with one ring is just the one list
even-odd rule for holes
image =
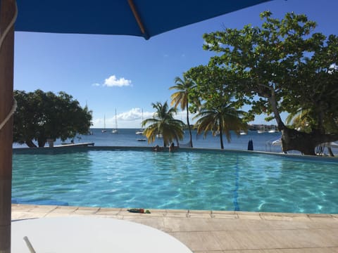
{"label": "turquoise swimming pool with rippling water", "polygon": [[13,151],[12,201],[87,207],[338,213],[338,160],[231,150]]}

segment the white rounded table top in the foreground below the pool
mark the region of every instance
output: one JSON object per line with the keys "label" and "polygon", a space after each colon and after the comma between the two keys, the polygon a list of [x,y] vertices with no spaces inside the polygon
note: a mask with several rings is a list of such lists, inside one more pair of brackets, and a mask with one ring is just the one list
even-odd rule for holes
{"label": "white rounded table top in the foreground below the pool", "polygon": [[139,223],[85,216],[12,221],[11,252],[37,253],[146,252],[192,253],[173,236]]}

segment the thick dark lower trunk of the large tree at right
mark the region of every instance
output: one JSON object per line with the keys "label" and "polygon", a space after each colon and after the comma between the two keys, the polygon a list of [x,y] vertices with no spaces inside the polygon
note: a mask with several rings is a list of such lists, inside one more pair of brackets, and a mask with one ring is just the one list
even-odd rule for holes
{"label": "thick dark lower trunk of the large tree at right", "polygon": [[298,150],[303,155],[315,155],[315,147],[321,143],[338,140],[338,134],[304,133],[284,126],[282,129],[282,150]]}

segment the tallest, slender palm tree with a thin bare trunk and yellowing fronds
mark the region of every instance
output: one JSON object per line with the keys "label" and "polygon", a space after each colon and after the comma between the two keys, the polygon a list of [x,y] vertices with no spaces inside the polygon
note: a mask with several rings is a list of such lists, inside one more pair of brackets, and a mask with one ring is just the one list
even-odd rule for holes
{"label": "tallest, slender palm tree with a thin bare trunk and yellowing fronds", "polygon": [[171,104],[174,105],[175,108],[178,105],[181,105],[182,110],[187,110],[187,125],[189,129],[190,135],[190,145],[192,148],[192,128],[189,123],[189,91],[194,88],[194,82],[192,79],[188,79],[187,77],[183,77],[183,80],[180,77],[175,77],[175,84],[171,86],[169,89],[176,89],[177,91],[171,95]]}

